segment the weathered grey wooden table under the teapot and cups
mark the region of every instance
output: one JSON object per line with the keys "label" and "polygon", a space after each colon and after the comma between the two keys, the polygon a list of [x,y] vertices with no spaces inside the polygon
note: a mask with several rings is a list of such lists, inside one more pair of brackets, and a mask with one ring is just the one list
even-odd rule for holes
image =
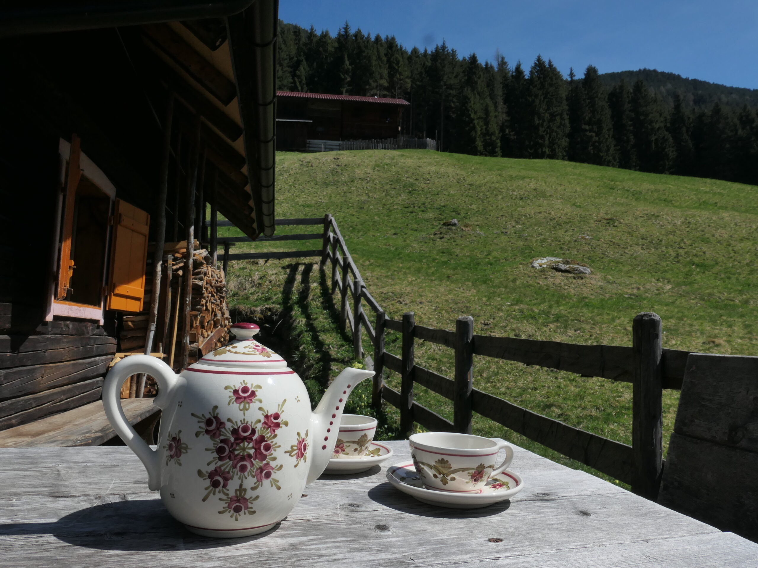
{"label": "weathered grey wooden table under the teapot and cups", "polygon": [[[516,448],[525,489],[484,509],[431,507],[381,470],[322,476],[269,532],[193,535],[124,447],[0,449],[3,566],[758,566],[758,544]],[[502,540],[501,540],[502,539]]]}

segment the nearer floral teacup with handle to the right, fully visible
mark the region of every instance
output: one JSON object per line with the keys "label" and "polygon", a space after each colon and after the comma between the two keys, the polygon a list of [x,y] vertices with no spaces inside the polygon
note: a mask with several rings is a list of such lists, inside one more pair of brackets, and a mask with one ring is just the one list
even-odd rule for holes
{"label": "nearer floral teacup with handle to the right, fully visible", "polygon": [[[508,442],[471,434],[421,432],[409,438],[413,465],[428,489],[453,493],[478,493],[490,476],[511,464],[513,448]],[[506,459],[498,467],[500,450]]]}

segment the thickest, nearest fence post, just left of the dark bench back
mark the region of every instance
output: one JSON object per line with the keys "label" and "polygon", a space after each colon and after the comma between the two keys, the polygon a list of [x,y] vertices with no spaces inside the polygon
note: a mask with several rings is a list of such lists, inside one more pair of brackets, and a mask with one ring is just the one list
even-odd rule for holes
{"label": "thickest, nearest fence post, just left of the dark bench back", "polygon": [[662,473],[662,326],[643,312],[632,324],[632,478],[634,493],[656,501]]}

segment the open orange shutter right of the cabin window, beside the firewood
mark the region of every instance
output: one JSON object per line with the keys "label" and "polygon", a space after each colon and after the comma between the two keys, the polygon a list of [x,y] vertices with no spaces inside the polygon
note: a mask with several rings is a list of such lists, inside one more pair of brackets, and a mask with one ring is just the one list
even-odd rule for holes
{"label": "open orange shutter right of the cabin window, beside the firewood", "polygon": [[108,310],[142,311],[150,216],[117,199],[113,219]]}

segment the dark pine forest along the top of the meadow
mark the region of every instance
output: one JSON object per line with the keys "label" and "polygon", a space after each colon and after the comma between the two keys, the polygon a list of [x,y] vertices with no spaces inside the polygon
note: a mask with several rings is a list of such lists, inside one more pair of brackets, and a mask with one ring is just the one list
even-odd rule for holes
{"label": "dark pine forest along the top of the meadow", "polygon": [[[443,151],[758,185],[758,108],[749,89],[681,77],[681,91],[671,81],[656,89],[649,79],[659,72],[636,73],[630,83],[631,72],[600,75],[592,65],[583,76],[563,76],[541,56],[528,69],[503,55],[482,64],[444,41],[408,50],[348,23],[331,36],[280,22],[277,66],[280,90],[404,98],[401,133],[437,139]],[[691,83],[711,89],[698,98],[685,90]],[[719,87],[730,89],[723,101]]]}

